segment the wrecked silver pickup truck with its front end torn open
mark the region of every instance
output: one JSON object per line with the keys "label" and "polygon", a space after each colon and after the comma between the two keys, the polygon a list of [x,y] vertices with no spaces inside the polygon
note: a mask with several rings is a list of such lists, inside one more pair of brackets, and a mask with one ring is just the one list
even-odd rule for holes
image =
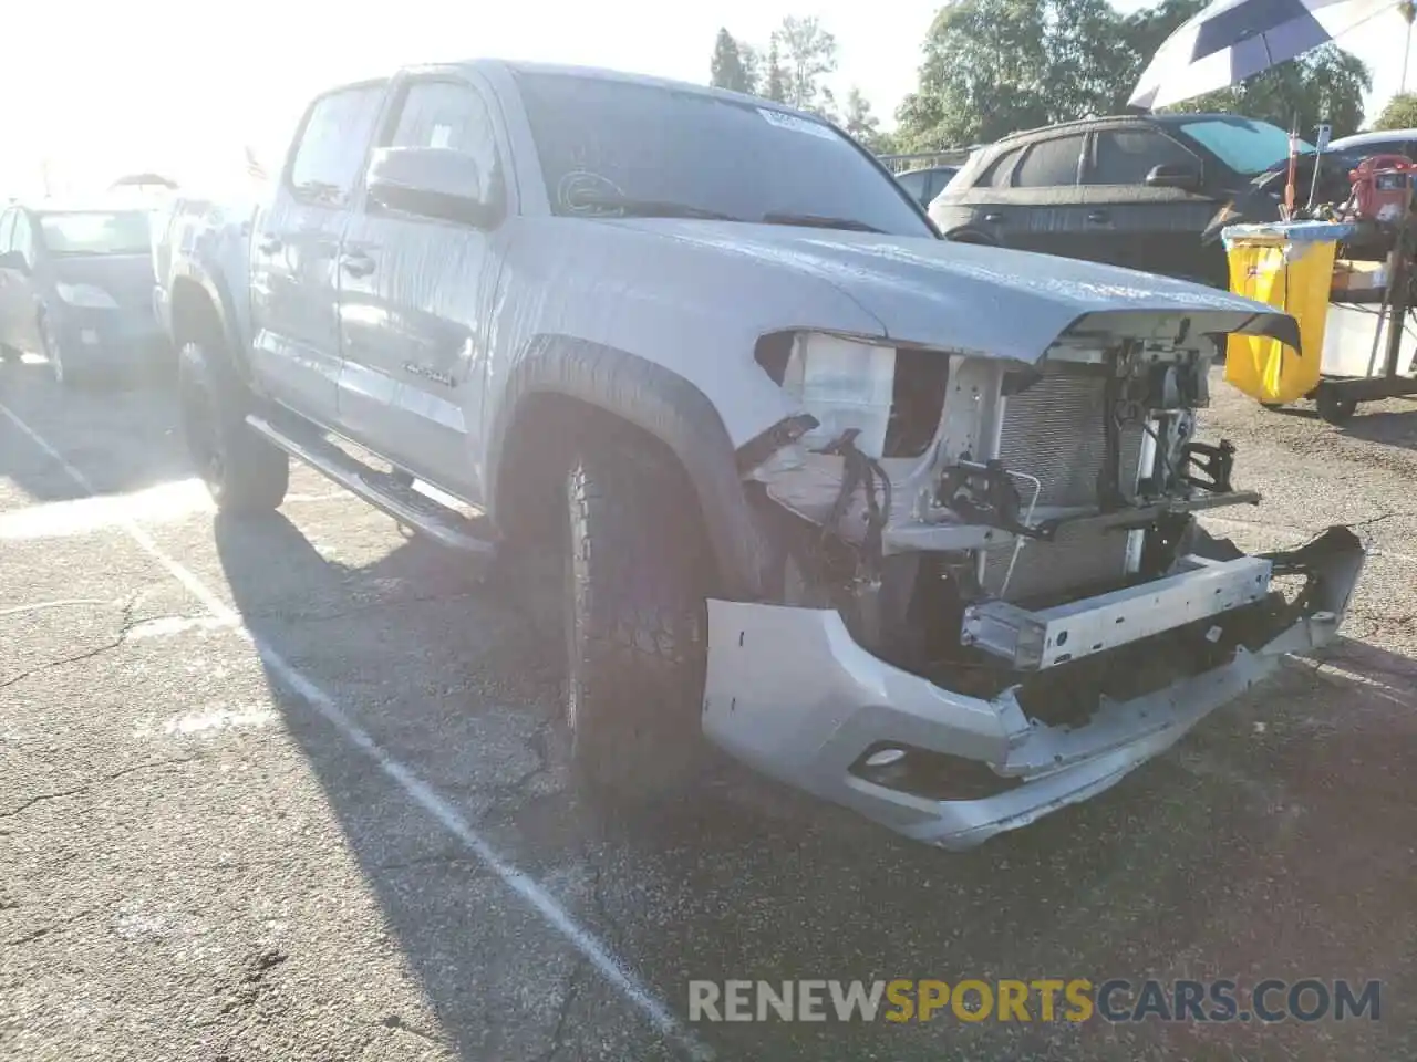
{"label": "wrecked silver pickup truck with its front end torn open", "polygon": [[218,504],[281,504],[295,456],[550,575],[599,787],[687,782],[707,735],[964,848],[1331,639],[1363,564],[1343,528],[1247,556],[1195,523],[1258,501],[1195,438],[1219,344],[1289,317],[947,244],[775,103],[407,69],[319,96],[265,201],[191,222],[154,261]]}

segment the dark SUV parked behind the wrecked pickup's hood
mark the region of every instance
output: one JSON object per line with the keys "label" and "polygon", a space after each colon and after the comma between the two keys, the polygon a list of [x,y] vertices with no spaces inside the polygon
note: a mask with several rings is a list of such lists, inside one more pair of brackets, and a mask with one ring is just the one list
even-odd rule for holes
{"label": "dark SUV parked behind the wrecked pickup's hood", "polygon": [[1202,234],[1288,150],[1282,129],[1237,115],[1091,118],[975,152],[930,217],[948,239],[1224,287],[1224,248]]}

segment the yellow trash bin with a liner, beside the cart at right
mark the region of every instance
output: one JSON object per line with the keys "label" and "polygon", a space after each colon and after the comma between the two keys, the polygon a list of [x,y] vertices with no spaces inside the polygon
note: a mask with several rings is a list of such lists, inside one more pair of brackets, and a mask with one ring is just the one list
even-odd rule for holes
{"label": "yellow trash bin with a liner, beside the cart at right", "polygon": [[1328,221],[1230,225],[1230,290],[1299,323],[1301,351],[1264,336],[1230,336],[1226,379],[1261,402],[1294,402],[1319,382],[1333,252],[1352,227]]}

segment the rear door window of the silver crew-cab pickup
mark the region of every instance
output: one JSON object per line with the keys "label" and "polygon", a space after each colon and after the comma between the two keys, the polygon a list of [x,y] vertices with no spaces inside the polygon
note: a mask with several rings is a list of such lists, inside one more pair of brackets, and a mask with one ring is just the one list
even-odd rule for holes
{"label": "rear door window of the silver crew-cab pickup", "polygon": [[349,201],[383,99],[383,85],[360,85],[315,101],[290,160],[289,183],[296,195],[332,207]]}

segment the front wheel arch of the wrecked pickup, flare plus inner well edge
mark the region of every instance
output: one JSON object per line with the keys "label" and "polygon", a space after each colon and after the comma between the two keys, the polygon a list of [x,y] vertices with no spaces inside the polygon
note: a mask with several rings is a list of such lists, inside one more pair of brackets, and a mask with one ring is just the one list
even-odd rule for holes
{"label": "front wheel arch of the wrecked pickup, flare plus inner well edge", "polygon": [[679,374],[599,343],[541,336],[512,371],[486,452],[487,511],[502,535],[530,534],[577,438],[615,422],[662,445],[684,474],[723,592],[761,598],[768,551],[717,409]]}

